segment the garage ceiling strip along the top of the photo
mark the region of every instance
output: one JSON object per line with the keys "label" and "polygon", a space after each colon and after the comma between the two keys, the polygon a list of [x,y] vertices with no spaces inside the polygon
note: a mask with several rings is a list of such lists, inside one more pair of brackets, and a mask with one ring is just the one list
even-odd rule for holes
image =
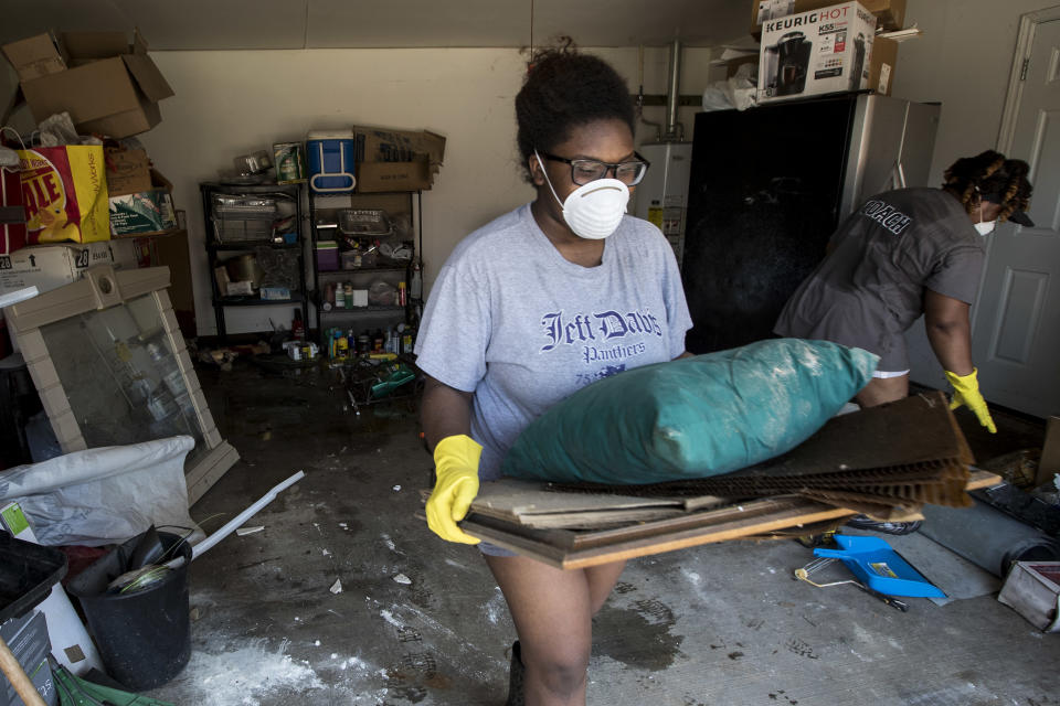
{"label": "garage ceiling strip along the top of the photo", "polygon": [[138,26],[152,50],[581,46],[746,36],[749,0],[0,0],[0,43]]}

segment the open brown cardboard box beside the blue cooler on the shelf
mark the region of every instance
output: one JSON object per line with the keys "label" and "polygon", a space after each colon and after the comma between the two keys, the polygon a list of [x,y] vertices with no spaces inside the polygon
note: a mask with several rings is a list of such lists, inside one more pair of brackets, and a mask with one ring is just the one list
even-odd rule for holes
{"label": "open brown cardboard box beside the blue cooler on the shelf", "polygon": [[428,130],[353,128],[357,191],[430,190],[445,158],[445,138]]}

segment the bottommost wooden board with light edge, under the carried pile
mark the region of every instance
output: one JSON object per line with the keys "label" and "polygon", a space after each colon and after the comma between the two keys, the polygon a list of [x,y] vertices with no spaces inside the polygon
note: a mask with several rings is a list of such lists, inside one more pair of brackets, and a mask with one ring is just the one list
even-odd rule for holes
{"label": "bottommost wooden board with light edge, under the carried pile", "polygon": [[[1000,480],[994,473],[974,471],[966,488],[987,488]],[[521,556],[573,569],[702,544],[754,538],[855,514],[857,511],[849,507],[805,498],[770,498],[595,532],[532,530],[477,514],[469,515],[460,527],[475,537]]]}

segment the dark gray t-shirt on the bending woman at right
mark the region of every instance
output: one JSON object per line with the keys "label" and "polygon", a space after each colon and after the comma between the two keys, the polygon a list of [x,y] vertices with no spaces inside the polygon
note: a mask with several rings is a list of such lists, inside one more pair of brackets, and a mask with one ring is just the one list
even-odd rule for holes
{"label": "dark gray t-shirt on the bending woman at right", "polygon": [[873,196],[840,224],[835,249],[773,331],[865,349],[880,356],[880,371],[908,370],[903,334],[924,311],[924,290],[972,303],[982,240],[961,203],[940,189]]}

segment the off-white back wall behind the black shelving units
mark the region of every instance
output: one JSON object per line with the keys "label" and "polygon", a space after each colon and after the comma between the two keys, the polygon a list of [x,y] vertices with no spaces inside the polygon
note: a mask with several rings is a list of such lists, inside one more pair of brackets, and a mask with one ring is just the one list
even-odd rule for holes
{"label": "off-white back wall behind the black shelving units", "polygon": [[[598,50],[628,79],[639,82],[636,47]],[[515,95],[524,56],[505,49],[308,50],[156,52],[176,92],[162,122],[139,136],[188,212],[199,333],[214,333],[204,226],[198,183],[232,158],[299,140],[309,129],[378,125],[431,129],[446,137],[445,165],[424,192],[425,284],[457,242],[532,199],[515,148]],[[701,94],[709,50],[685,51],[682,93]],[[665,93],[668,53],[646,50],[646,93]],[[691,133],[695,108],[681,110]],[[23,111],[24,114],[24,111]],[[662,108],[646,109],[661,120]],[[24,115],[21,116],[24,118]],[[649,131],[645,131],[647,135]],[[650,138],[649,138],[650,139]],[[229,331],[267,330],[268,318],[289,325],[292,307],[229,309]]]}

